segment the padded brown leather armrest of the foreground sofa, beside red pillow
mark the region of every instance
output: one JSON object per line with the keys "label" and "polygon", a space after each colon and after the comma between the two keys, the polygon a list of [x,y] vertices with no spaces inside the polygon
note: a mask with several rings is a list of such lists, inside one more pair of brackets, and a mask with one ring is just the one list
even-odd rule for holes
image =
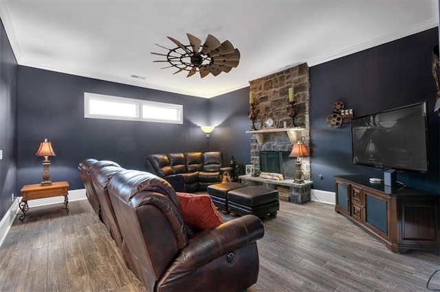
{"label": "padded brown leather armrest of the foreground sofa, beside red pillow", "polygon": [[254,215],[245,215],[212,230],[203,230],[189,239],[170,271],[179,273],[196,269],[223,254],[261,239],[263,235],[263,223]]}

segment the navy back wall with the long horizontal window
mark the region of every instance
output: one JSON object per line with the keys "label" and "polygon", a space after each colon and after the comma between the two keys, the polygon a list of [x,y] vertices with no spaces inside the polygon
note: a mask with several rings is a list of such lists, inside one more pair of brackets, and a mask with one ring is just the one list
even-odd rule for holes
{"label": "navy back wall with the long horizontal window", "polygon": [[[78,163],[85,158],[114,160],[126,169],[145,169],[149,154],[205,151],[208,99],[105,82],[19,66],[18,184],[41,182],[39,143],[52,141],[52,181],[84,188]],[[84,93],[98,93],[184,106],[183,125],[84,118]]]}

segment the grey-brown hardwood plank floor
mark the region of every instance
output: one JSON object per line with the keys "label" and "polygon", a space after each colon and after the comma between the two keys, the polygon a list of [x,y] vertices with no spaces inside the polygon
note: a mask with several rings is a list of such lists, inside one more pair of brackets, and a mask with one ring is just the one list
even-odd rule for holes
{"label": "grey-brown hardwood plank floor", "polygon": [[[87,200],[69,209],[15,219],[0,247],[0,291],[145,291]],[[264,226],[249,292],[428,291],[440,269],[436,254],[393,254],[327,204],[281,201]],[[430,287],[440,289],[440,273]]]}

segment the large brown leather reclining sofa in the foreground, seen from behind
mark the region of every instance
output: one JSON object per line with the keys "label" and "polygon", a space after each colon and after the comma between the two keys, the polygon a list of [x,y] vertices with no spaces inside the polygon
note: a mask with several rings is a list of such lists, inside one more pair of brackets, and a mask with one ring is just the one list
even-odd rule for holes
{"label": "large brown leather reclining sofa in the foreground, seen from behind", "polygon": [[81,171],[91,169],[89,178],[81,173],[85,184],[92,182],[87,182],[87,197],[96,195],[95,186],[107,186],[102,189],[120,230],[118,246],[147,291],[244,291],[256,283],[256,240],[264,234],[258,217],[245,215],[196,232],[184,223],[179,199],[166,180],[100,165],[93,160],[80,164]]}

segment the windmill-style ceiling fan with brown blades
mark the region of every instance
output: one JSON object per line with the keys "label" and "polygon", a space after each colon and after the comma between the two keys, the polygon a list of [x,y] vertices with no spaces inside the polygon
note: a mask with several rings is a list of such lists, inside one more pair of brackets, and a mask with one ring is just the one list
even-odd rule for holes
{"label": "windmill-style ceiling fan with brown blades", "polygon": [[168,62],[170,66],[163,67],[161,69],[176,67],[175,73],[181,71],[188,71],[186,77],[190,77],[199,72],[200,77],[203,78],[209,73],[214,76],[219,75],[221,72],[228,73],[232,67],[239,65],[240,51],[234,49],[234,46],[229,40],[219,42],[217,38],[208,34],[205,43],[201,45],[201,40],[192,36],[192,34],[186,34],[190,45],[183,45],[179,40],[175,38],[168,38],[177,45],[174,49],[168,49],[168,53],[153,53],[153,55],[166,56],[166,60],[155,60],[153,62]]}

